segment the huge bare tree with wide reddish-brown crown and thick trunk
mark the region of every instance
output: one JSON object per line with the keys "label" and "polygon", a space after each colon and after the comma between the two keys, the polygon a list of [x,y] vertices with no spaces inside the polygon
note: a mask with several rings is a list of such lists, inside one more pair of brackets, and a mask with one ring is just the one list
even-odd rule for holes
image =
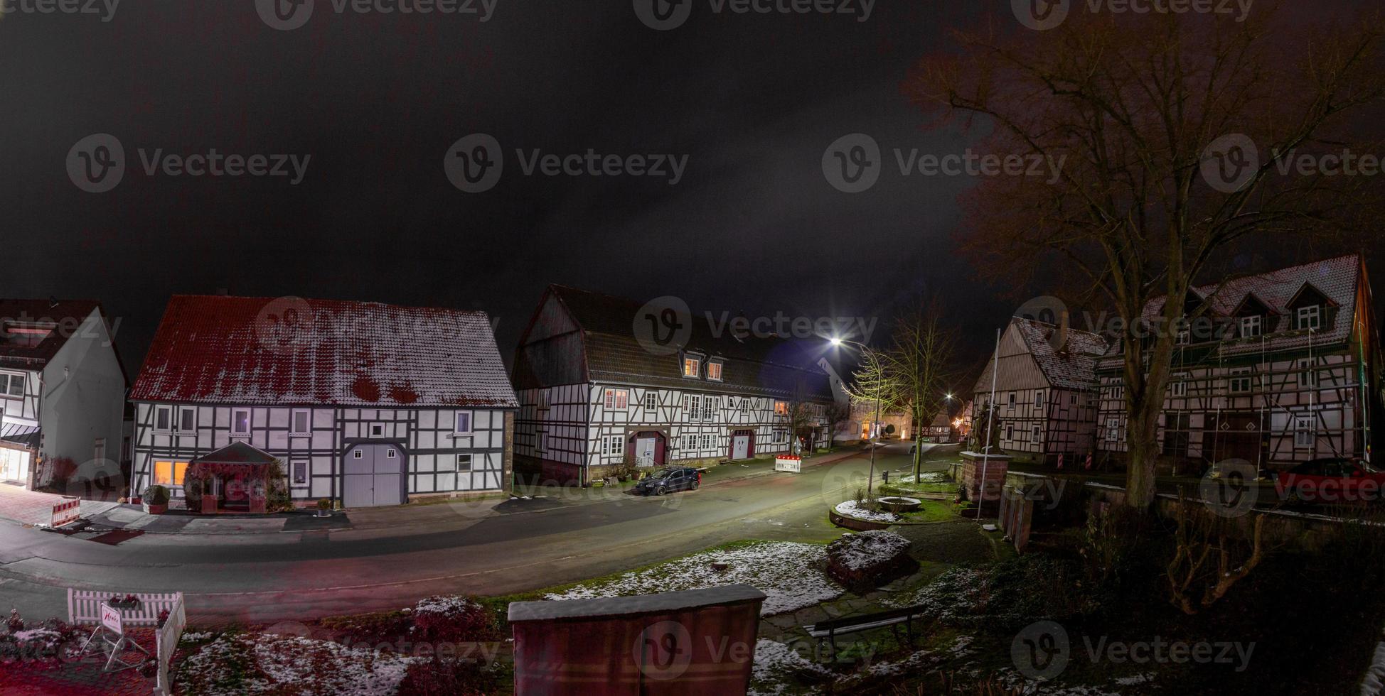
{"label": "huge bare tree with wide reddish-brown crown and thick trunk", "polygon": [[960,51],[925,58],[906,87],[935,126],[978,120],[983,147],[1044,174],[979,177],[967,246],[1017,285],[1068,273],[1114,304],[1119,324],[1094,328],[1123,350],[1134,508],[1154,500],[1176,336],[1209,313],[1194,278],[1267,234],[1305,246],[1379,208],[1381,177],[1335,176],[1343,151],[1378,151],[1361,136],[1385,77],[1371,12],[1072,12],[1046,32],[957,33]]}

